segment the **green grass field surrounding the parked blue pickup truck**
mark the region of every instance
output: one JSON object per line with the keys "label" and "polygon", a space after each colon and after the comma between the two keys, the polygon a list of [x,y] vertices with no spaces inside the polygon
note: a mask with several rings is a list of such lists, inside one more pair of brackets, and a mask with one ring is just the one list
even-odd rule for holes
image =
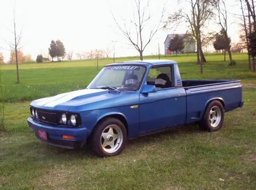
{"label": "green grass field surrounding the parked blue pickup truck", "polygon": [[[256,74],[246,54],[207,55],[204,74],[195,55],[170,56],[184,79],[241,79],[242,109],[225,115],[214,133],[196,125],[128,141],[121,155],[99,159],[89,147],[64,150],[40,143],[27,126],[31,100],[85,88],[97,74],[95,60],[1,66],[5,125],[0,134],[0,189],[256,189]],[[157,59],[156,57],[147,57]],[[125,61],[138,58],[119,58]],[[112,62],[99,61],[99,68]]]}

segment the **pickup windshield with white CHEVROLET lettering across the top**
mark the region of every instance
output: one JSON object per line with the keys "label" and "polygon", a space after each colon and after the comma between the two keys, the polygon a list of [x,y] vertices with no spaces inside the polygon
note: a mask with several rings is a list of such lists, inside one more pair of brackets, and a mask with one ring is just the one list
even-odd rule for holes
{"label": "pickup windshield with white CHEVROLET lettering across the top", "polygon": [[138,65],[105,66],[88,88],[116,88],[117,90],[138,90],[146,68]]}

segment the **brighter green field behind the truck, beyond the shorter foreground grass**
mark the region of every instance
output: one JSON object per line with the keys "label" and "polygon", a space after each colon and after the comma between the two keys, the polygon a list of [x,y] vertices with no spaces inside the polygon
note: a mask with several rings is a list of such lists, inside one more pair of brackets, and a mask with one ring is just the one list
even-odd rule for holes
{"label": "brighter green field behind the truck, beyond the shorter foreground grass", "polygon": [[[163,59],[173,59],[179,63],[181,77],[183,79],[241,79],[243,83],[254,83],[256,73],[248,70],[246,54],[235,54],[236,66],[228,66],[222,55],[210,54],[206,58],[208,63],[204,65],[204,74],[195,64],[196,56],[168,56]],[[138,58],[118,58],[116,62]],[[147,56],[146,59],[157,59],[156,56]],[[99,69],[110,64],[112,59],[99,61]],[[20,84],[15,84],[16,70],[14,65],[1,66],[2,83],[4,84],[5,102],[18,102],[33,100],[39,97],[53,96],[67,91],[78,90],[87,87],[97,74],[96,60],[58,62],[46,64],[21,64]]]}

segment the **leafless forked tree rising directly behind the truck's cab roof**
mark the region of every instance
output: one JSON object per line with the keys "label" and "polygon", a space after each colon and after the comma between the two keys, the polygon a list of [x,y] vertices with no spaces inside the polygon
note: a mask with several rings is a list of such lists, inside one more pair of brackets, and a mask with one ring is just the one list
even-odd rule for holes
{"label": "leafless forked tree rising directly behind the truck's cab roof", "polygon": [[[144,28],[151,21],[150,12],[149,12],[149,4],[145,5],[144,7],[141,7],[142,0],[135,0],[135,7],[136,9],[133,9],[133,19],[129,22],[132,23],[132,30],[134,31],[135,35],[131,33],[131,29],[128,29],[127,21],[123,20],[120,24],[116,17],[113,15],[113,19],[115,20],[116,25],[118,26],[119,30],[122,32],[122,34],[127,38],[128,42],[135,47],[135,49],[140,53],[140,59],[143,60],[143,52],[147,45],[151,42],[153,37],[156,35],[157,31],[162,29],[161,26],[163,16],[165,13],[165,8],[162,9],[162,15],[160,16],[160,20],[158,23],[156,23],[156,26],[153,27],[153,29],[148,31],[148,36],[144,33]],[[145,30],[146,31],[146,30]],[[147,36],[147,38],[146,38]],[[143,39],[147,39],[146,41],[143,41]]]}

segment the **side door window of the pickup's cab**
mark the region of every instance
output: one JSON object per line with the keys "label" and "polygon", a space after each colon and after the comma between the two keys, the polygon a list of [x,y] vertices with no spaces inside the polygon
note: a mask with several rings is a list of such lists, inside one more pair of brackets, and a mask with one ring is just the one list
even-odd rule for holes
{"label": "side door window of the pickup's cab", "polygon": [[151,68],[147,76],[147,84],[155,85],[156,89],[172,87],[172,66]]}

